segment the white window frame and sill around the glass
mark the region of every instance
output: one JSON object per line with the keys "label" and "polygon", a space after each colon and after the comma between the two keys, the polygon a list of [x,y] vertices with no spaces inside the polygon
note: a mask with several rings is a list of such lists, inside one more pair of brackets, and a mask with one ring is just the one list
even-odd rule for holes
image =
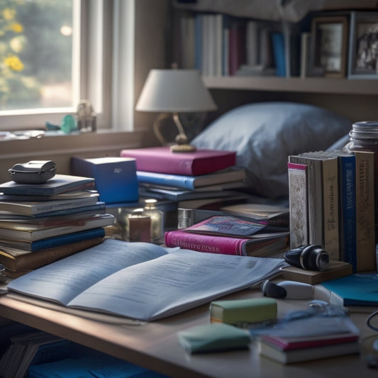
{"label": "white window frame and sill around the glass", "polygon": [[[106,6],[104,6],[106,1]],[[75,28],[79,38],[74,47],[79,51],[79,70],[74,75],[74,103],[88,99],[97,113],[97,127],[111,128],[111,62],[113,38],[113,3],[118,0],[73,0]],[[134,1],[134,0],[133,0]],[[133,2],[131,1],[131,2]],[[128,1],[127,1],[128,2]],[[75,84],[76,83],[76,84]],[[0,112],[0,130],[43,128],[46,121],[60,124],[75,106],[65,108],[22,109]]]}

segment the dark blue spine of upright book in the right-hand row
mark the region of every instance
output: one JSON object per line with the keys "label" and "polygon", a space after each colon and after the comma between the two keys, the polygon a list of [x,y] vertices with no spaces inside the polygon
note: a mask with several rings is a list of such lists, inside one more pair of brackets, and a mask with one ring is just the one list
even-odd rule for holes
{"label": "dark blue spine of upright book in the right-hand row", "polygon": [[355,156],[340,156],[340,220],[343,260],[357,270],[356,253],[356,199],[355,199]]}

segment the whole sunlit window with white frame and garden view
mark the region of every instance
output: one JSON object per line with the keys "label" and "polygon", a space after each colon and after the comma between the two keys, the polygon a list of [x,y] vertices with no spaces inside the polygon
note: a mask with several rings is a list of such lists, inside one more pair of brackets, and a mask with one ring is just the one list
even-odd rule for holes
{"label": "whole sunlit window with white frame and garden view", "polygon": [[[118,70],[113,57],[118,62],[119,57],[133,56],[130,42],[119,43],[124,25],[133,25],[119,22],[120,17],[133,19],[133,4],[133,0],[1,0],[0,130],[40,128],[46,121],[59,124],[65,114],[76,111],[80,99],[91,101],[98,128],[111,128],[113,117],[130,130],[130,114],[121,115],[120,122],[111,98],[116,96],[119,102],[120,95],[129,95],[112,87],[119,74],[123,79],[125,74],[132,77],[125,65]],[[132,40],[133,32],[127,31]],[[120,106],[119,111],[132,109],[132,99],[125,101],[131,107]]]}

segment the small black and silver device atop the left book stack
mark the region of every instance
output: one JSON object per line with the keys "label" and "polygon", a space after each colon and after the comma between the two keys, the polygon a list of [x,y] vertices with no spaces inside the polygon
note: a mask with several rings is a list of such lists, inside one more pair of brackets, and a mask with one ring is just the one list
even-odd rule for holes
{"label": "small black and silver device atop the left book stack", "polygon": [[57,166],[51,160],[31,160],[8,169],[12,180],[18,184],[43,184],[55,176]]}

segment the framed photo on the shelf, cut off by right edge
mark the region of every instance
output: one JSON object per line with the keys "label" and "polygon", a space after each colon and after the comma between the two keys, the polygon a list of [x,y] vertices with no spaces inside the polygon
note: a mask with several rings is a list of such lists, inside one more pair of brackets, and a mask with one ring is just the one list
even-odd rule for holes
{"label": "framed photo on the shelf, cut off by right edge", "polygon": [[378,79],[378,13],[352,12],[348,77]]}

